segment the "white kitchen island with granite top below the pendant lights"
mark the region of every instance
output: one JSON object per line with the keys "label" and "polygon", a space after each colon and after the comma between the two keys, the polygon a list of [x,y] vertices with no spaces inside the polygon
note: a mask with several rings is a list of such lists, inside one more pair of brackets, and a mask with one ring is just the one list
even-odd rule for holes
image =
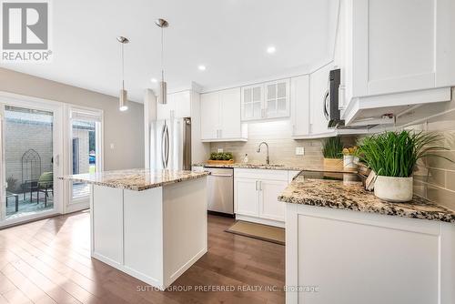
{"label": "white kitchen island with granite top below the pendant lights", "polygon": [[166,289],[207,252],[207,172],[130,169],[90,184],[91,256]]}

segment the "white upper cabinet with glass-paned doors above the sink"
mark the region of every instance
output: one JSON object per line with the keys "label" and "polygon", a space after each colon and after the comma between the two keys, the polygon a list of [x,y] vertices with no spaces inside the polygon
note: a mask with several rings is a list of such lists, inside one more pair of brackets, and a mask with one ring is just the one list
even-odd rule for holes
{"label": "white upper cabinet with glass-paned doors above the sink", "polygon": [[289,79],[243,86],[242,120],[289,117]]}

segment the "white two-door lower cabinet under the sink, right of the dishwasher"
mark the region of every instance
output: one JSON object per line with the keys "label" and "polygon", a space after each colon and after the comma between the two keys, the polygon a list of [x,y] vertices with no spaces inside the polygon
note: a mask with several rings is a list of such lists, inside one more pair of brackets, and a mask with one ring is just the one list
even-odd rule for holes
{"label": "white two-door lower cabinet under the sink, right of the dishwasher", "polygon": [[278,196],[286,187],[287,170],[234,169],[236,218],[284,227],[285,204]]}

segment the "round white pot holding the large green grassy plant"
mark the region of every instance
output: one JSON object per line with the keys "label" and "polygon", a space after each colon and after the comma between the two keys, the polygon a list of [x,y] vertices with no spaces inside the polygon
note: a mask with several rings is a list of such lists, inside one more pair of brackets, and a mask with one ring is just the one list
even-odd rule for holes
{"label": "round white pot holding the large green grassy plant", "polygon": [[412,177],[377,177],[374,182],[374,195],[389,202],[412,200]]}

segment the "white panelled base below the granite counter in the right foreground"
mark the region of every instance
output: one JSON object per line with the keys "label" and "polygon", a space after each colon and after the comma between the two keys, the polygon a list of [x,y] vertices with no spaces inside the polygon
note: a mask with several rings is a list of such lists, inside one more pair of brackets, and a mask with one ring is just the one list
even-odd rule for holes
{"label": "white panelled base below the granite counter in the right foreground", "polygon": [[287,303],[453,303],[454,224],[286,205]]}

